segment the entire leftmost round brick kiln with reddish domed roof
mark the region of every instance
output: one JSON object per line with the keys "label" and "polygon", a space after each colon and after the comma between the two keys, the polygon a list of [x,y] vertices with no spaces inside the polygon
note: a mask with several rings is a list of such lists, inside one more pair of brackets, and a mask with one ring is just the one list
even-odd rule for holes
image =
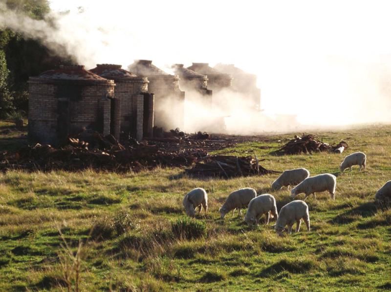
{"label": "entire leftmost round brick kiln with reddish domed roof", "polygon": [[60,144],[84,128],[119,136],[114,81],[84,69],[62,66],[29,78],[28,138]]}

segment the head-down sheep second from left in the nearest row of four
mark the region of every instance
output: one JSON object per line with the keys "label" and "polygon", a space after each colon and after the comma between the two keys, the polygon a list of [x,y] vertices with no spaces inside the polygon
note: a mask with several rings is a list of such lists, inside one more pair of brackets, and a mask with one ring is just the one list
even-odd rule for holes
{"label": "head-down sheep second from left in the nearest row of four", "polygon": [[257,192],[252,188],[244,188],[238,191],[232,192],[228,195],[224,204],[221,206],[220,212],[221,218],[224,218],[225,214],[232,211],[232,216],[234,216],[235,209],[239,210],[239,214],[241,213],[241,208],[247,207],[248,203],[257,196]]}

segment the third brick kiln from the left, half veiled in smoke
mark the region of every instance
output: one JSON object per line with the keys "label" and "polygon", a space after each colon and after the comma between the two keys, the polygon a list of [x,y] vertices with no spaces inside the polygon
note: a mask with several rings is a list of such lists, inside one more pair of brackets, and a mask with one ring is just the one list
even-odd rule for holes
{"label": "third brick kiln from the left, half veiled in smoke", "polygon": [[154,94],[154,125],[165,130],[183,128],[185,92],[179,89],[179,77],[157,68],[151,60],[135,60],[128,70],[150,81],[148,90]]}

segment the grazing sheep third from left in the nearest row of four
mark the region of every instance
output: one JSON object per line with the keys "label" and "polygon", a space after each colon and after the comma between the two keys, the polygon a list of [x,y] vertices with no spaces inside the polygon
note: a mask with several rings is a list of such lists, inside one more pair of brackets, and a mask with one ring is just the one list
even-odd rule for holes
{"label": "grazing sheep third from left in the nearest row of four", "polygon": [[270,215],[277,219],[277,206],[274,196],[269,194],[259,195],[248,204],[244,221],[247,224],[258,224],[262,214],[265,214],[265,224],[269,224]]}

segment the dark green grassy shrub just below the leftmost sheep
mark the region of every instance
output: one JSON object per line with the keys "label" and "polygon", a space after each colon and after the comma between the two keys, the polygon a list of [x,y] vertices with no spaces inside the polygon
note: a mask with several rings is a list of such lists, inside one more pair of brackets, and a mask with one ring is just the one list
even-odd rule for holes
{"label": "dark green grassy shrub just below the leftmost sheep", "polygon": [[191,240],[204,236],[206,226],[202,221],[183,217],[171,222],[171,230],[177,238]]}

